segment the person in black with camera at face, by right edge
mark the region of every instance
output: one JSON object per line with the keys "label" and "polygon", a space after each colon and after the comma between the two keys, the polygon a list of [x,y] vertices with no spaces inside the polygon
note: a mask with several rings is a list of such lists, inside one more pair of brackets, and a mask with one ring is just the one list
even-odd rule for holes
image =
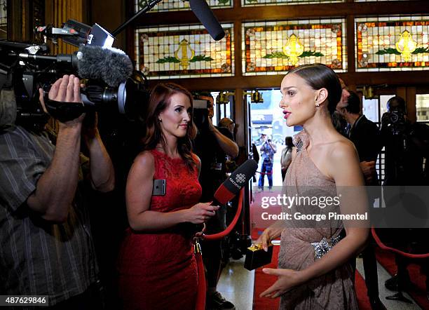
{"label": "person in black with camera at face, by right edge", "polygon": [[[387,102],[388,112],[381,118],[381,137],[386,147],[386,169],[383,182],[383,196],[386,207],[396,193],[392,186],[424,185],[423,158],[427,157],[429,127],[422,123],[411,123],[407,118],[404,99],[399,96]],[[422,231],[418,229],[390,229],[390,237],[396,248],[404,250],[409,242],[415,242]],[[427,234],[425,234],[427,236]],[[427,241],[423,240],[423,243]],[[385,283],[390,290],[402,290],[409,287],[410,279],[407,271],[407,260],[396,255],[397,274]],[[423,262],[426,264],[427,260]],[[427,270],[425,271],[427,274]],[[390,299],[401,299],[402,295],[394,295]]]}

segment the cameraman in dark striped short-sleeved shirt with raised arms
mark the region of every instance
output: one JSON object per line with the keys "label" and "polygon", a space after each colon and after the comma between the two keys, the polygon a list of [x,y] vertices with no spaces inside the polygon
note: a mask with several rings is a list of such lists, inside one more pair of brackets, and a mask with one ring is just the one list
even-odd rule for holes
{"label": "cameraman in dark striped short-sleeved shirt with raised arms", "polygon": [[[80,87],[77,77],[64,75],[48,97],[81,102]],[[0,295],[48,295],[52,309],[100,309],[85,185],[111,191],[114,169],[97,130],[96,114],[59,122],[55,146],[44,131],[32,132],[11,121],[4,125]],[[81,142],[88,149],[89,163],[80,153]]]}

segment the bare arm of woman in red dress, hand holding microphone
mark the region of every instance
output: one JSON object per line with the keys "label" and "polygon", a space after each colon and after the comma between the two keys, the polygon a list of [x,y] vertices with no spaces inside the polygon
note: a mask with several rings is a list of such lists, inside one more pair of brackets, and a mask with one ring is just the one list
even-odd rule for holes
{"label": "bare arm of woman in red dress, hand holding microphone", "polygon": [[153,180],[154,157],[143,152],[132,164],[125,190],[128,222],[136,231],[159,231],[183,222],[202,224],[219,209],[219,206],[197,203],[189,209],[168,213],[150,210]]}

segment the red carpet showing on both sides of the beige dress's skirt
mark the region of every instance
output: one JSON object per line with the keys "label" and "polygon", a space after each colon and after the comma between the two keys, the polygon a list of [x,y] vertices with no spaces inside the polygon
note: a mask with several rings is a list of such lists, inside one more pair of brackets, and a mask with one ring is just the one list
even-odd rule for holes
{"label": "red carpet showing on both sides of the beige dress's skirt", "polygon": [[[254,229],[252,231],[252,240],[256,240],[261,234],[260,229]],[[273,249],[273,261],[271,264],[268,264],[264,267],[266,268],[276,268],[277,260],[278,260],[278,251],[280,250],[280,246],[274,245]],[[261,298],[259,294],[264,292],[267,288],[269,288],[274,282],[275,277],[268,276],[268,274],[264,274],[262,272],[262,268],[258,268],[254,271],[254,291],[253,291],[253,309],[254,310],[275,310],[278,309],[278,304],[280,303],[280,298],[270,299],[270,298]],[[355,285],[356,285],[356,295],[357,302],[359,304],[359,309],[362,310],[371,310],[371,306],[369,306],[369,300],[367,297],[367,287],[365,285],[365,281],[360,276],[360,274],[356,271],[355,276]]]}

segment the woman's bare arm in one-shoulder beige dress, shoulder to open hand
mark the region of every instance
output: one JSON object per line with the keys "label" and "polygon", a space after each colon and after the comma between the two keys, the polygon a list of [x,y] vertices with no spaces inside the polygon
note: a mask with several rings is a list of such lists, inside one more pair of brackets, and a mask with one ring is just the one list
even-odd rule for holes
{"label": "woman's bare arm in one-shoulder beige dress, shoulder to open hand", "polygon": [[[357,152],[351,144],[340,143],[341,145],[335,147],[332,154],[328,156],[328,170],[329,175],[335,180],[337,194],[341,194],[341,213],[350,214],[350,206],[353,205],[353,213],[363,214],[367,210],[367,197],[363,187],[365,183],[360,170]],[[351,187],[353,187],[353,190],[350,190]],[[296,285],[327,274],[329,271],[346,263],[357,252],[360,252],[367,241],[369,229],[361,228],[364,226],[362,222],[345,221],[344,224],[346,237],[308,268],[301,271],[264,269],[266,274],[273,274],[279,278],[261,296],[279,297]]]}

